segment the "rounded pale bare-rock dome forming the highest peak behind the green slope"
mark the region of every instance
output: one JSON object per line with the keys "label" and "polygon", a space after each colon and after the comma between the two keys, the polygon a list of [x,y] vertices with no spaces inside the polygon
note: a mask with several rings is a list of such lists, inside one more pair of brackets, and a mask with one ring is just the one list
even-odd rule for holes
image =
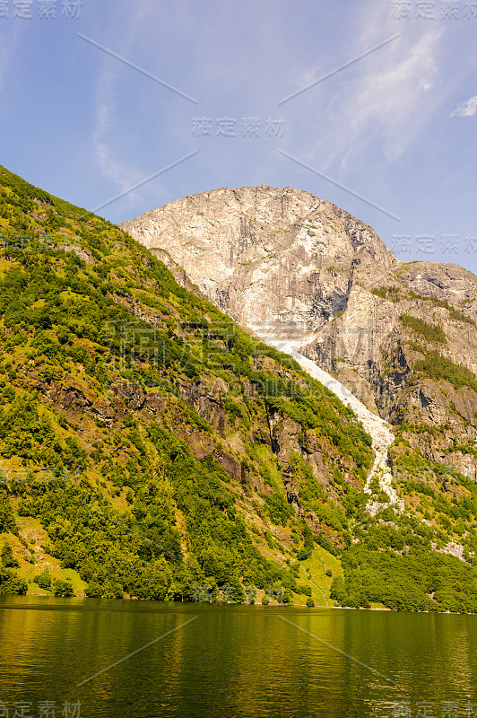
{"label": "rounded pale bare-rock dome forming the highest peak behind the green slope", "polygon": [[343,209],[303,190],[221,188],[170,202],[121,227],[160,249],[243,324],[305,337],[376,281],[394,254]]}

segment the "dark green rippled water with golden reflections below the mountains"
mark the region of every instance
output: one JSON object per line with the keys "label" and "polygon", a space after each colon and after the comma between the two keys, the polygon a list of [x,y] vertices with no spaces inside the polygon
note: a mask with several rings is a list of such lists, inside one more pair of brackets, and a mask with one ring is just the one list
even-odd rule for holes
{"label": "dark green rippled water with golden reflections below the mountains", "polygon": [[0,701],[10,718],[78,700],[91,718],[470,718],[476,640],[475,616],[3,596]]}

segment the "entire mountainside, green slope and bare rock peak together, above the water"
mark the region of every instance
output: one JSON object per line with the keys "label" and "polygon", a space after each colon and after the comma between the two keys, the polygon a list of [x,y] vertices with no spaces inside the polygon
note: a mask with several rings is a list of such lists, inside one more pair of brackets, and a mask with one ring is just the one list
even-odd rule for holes
{"label": "entire mountainside, green slope and bare rock peak together, above the water", "polygon": [[[473,276],[296,190],[176,209],[171,257],[0,167],[0,594],[477,612]],[[268,346],[204,298],[255,261]]]}

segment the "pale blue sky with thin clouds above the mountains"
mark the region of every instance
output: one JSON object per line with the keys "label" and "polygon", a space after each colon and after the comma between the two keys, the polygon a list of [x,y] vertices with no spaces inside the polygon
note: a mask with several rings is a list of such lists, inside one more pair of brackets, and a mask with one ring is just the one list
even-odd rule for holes
{"label": "pale blue sky with thin clouds above the mountains", "polygon": [[0,0],[0,162],[112,222],[306,189],[477,272],[476,70],[476,0]]}

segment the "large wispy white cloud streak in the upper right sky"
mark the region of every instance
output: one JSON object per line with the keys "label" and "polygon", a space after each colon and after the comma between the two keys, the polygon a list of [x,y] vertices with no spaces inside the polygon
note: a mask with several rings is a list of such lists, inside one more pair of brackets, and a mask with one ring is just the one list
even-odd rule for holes
{"label": "large wispy white cloud streak in the upper right sky", "polygon": [[[385,5],[372,3],[368,13],[360,13],[360,31],[348,52],[359,55],[393,30]],[[343,179],[362,165],[369,150],[393,162],[421,135],[442,101],[438,66],[446,31],[442,25],[423,27],[414,25],[340,74],[339,90],[336,83],[330,83],[329,91],[326,83],[321,85],[320,139],[310,148],[309,161],[325,170],[333,167]]]}

